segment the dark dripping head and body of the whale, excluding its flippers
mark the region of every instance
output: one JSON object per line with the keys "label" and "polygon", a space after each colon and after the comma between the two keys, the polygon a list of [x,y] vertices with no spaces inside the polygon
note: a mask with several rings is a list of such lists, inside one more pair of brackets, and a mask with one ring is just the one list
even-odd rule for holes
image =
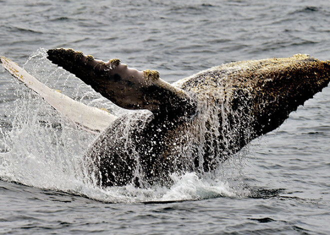
{"label": "dark dripping head and body of the whale, excluding its flippers", "polygon": [[[117,118],[85,154],[88,179],[100,187],[166,185],[171,173],[211,171],[277,128],[329,79],[330,61],[304,54],[232,62],[181,79],[171,85],[194,105]],[[155,103],[165,107],[166,98]]]}

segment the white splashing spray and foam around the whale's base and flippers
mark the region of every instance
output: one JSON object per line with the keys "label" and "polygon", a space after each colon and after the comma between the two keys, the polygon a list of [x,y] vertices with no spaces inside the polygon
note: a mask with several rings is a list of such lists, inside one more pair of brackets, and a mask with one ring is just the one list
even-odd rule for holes
{"label": "white splashing spray and foam around the whale's base and flippers", "polygon": [[[127,112],[93,92],[90,87],[73,75],[52,65],[46,59],[45,49],[39,49],[32,54],[24,64],[24,68],[47,86],[60,88],[61,92],[70,97],[76,97],[75,99],[80,102],[104,107],[117,115]],[[9,76],[7,77],[10,79]],[[14,87],[14,101],[3,102],[0,107],[5,117],[3,123],[8,124],[0,128],[1,180],[41,189],[69,192],[111,203],[200,200],[245,195],[240,183],[237,183],[242,169],[239,154],[221,165],[216,174],[204,174],[202,177],[196,173],[171,175],[173,183],[169,188],[154,185],[141,189],[127,185],[100,189],[95,184],[88,183],[83,167],[83,153],[92,144],[95,136],[69,123],[26,87],[19,83],[14,84]],[[205,120],[198,121],[203,123],[203,128],[207,126]],[[218,120],[213,120],[213,122],[219,123]],[[201,128],[201,126],[196,126],[196,128]],[[218,128],[212,126],[212,129]],[[193,133],[202,133],[203,130],[194,131]],[[193,133],[191,132],[187,138],[197,138],[201,142],[202,138],[205,138],[204,135],[196,137]],[[216,131],[213,133],[219,135]],[[187,148],[190,147],[192,146],[187,146]],[[182,153],[188,155],[189,151],[191,152],[186,149]],[[228,172],[230,174],[227,174]],[[228,176],[234,180],[229,180]]]}

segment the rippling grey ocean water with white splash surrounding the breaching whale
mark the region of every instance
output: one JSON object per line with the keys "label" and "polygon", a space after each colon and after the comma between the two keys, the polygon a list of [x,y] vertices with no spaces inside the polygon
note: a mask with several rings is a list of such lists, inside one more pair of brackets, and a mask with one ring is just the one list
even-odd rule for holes
{"label": "rippling grey ocean water with white splash surrounding the breaching whale", "polygon": [[[122,113],[45,49],[69,47],[173,82],[230,61],[330,59],[328,0],[0,0],[0,55],[52,88]],[[219,166],[170,188],[82,180],[95,136],[0,69],[0,234],[329,234],[330,88]]]}

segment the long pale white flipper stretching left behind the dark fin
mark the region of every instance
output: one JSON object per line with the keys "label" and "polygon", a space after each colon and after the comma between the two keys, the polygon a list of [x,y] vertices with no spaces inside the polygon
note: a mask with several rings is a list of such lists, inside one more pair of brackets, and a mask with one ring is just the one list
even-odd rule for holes
{"label": "long pale white flipper stretching left behind the dark fin", "polygon": [[106,110],[89,107],[47,87],[16,63],[3,56],[0,56],[0,63],[12,76],[39,94],[54,109],[83,130],[96,134],[103,131],[116,119],[116,116]]}

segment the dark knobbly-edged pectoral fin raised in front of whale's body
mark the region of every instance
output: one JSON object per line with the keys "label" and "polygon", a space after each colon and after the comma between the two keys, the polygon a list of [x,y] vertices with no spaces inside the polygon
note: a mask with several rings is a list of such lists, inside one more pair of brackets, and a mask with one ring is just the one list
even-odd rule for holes
{"label": "dark knobbly-edged pectoral fin raised in front of whale's body", "polygon": [[148,109],[163,118],[191,116],[195,104],[183,90],[159,78],[157,71],[128,68],[119,59],[96,60],[72,49],[50,49],[48,59],[75,74],[95,91],[126,109]]}

